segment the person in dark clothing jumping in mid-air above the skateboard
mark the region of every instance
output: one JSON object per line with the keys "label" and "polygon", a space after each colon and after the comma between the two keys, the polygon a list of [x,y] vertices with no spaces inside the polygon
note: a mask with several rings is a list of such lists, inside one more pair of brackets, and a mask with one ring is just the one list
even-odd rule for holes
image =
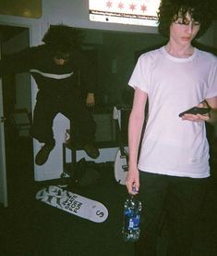
{"label": "person in dark clothing jumping in mid-air above the skateboard", "polygon": [[96,125],[87,108],[95,104],[95,70],[79,50],[80,38],[78,30],[72,27],[53,25],[43,36],[43,45],[26,48],[0,61],[1,75],[30,71],[38,85],[31,129],[32,136],[44,144],[35,158],[38,165],[48,160],[55,146],[53,121],[57,113],[73,123],[73,143],[90,158],[96,159],[100,154],[94,144]]}

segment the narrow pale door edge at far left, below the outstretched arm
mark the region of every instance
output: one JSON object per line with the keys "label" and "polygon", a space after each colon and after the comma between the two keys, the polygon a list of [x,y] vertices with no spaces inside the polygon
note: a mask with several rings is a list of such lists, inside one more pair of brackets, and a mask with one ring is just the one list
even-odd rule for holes
{"label": "narrow pale door edge at far left, below the outstretched arm", "polygon": [[2,79],[0,78],[0,205],[7,207],[7,188],[6,188],[6,147],[5,147],[5,128],[4,111],[2,96]]}

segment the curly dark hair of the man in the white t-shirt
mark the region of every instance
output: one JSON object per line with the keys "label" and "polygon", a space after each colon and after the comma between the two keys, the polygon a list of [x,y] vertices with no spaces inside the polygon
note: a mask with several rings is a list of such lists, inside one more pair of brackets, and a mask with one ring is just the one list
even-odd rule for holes
{"label": "curly dark hair of the man in the white t-shirt", "polygon": [[171,23],[180,16],[180,13],[183,19],[189,13],[192,19],[200,23],[196,36],[199,38],[211,25],[215,5],[215,0],[162,0],[158,11],[158,31],[163,36],[169,37]]}

